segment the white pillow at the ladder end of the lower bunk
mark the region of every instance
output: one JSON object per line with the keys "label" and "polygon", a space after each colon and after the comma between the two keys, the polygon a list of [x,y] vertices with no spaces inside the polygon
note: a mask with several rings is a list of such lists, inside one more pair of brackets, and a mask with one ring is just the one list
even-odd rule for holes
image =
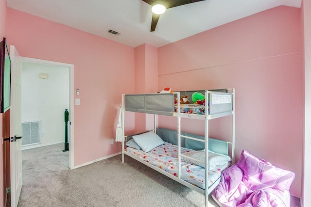
{"label": "white pillow at the ladder end of the lower bunk", "polygon": [[[200,160],[202,162],[205,162],[205,151],[204,150],[190,151],[190,152],[183,153],[183,155],[187,155],[197,160]],[[182,157],[182,159],[187,162],[190,162],[190,163],[193,163],[195,165],[205,168],[204,163],[197,162],[188,157]],[[229,156],[222,155],[222,154],[215,153],[215,152],[208,150],[208,169],[209,170],[214,169],[217,165],[224,165],[228,163],[229,161],[231,161],[231,158]]]}

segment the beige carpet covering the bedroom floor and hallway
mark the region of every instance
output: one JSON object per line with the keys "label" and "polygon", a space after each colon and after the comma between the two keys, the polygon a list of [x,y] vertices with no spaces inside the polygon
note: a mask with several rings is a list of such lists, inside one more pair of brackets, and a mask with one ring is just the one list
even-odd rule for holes
{"label": "beige carpet covering the bedroom floor and hallway", "polygon": [[22,152],[18,207],[204,206],[204,195],[128,156],[123,164],[118,155],[69,170],[69,152],[62,149],[57,144]]}

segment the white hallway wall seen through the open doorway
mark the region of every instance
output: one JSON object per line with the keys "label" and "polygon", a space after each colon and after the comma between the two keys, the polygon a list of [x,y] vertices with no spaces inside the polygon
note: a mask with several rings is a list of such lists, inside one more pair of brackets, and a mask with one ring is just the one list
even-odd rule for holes
{"label": "white hallway wall seen through the open doorway", "polygon": [[[48,75],[47,79],[39,74]],[[41,144],[64,142],[64,111],[68,108],[69,68],[23,62],[21,121],[41,121]]]}

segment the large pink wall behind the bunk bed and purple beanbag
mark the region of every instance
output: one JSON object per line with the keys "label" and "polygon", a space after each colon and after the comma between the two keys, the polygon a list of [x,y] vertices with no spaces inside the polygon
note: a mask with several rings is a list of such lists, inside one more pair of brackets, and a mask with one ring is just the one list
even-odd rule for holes
{"label": "large pink wall behind the bunk bed and purple beanbag", "polygon": [[[300,197],[304,96],[300,9],[276,7],[158,51],[159,89],[236,89],[236,157],[247,149],[293,171],[291,193]],[[160,126],[176,128],[174,118],[159,120]],[[203,121],[185,120],[181,126],[182,131],[204,134]],[[230,132],[230,118],[210,121],[210,137],[227,139]]]}

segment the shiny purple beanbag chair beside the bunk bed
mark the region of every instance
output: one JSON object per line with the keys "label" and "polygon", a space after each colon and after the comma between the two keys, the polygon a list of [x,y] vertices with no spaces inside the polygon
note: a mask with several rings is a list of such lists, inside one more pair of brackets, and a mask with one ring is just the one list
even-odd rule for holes
{"label": "shiny purple beanbag chair beside the bunk bed", "polygon": [[243,150],[239,161],[223,171],[212,197],[221,207],[290,207],[294,177]]}

